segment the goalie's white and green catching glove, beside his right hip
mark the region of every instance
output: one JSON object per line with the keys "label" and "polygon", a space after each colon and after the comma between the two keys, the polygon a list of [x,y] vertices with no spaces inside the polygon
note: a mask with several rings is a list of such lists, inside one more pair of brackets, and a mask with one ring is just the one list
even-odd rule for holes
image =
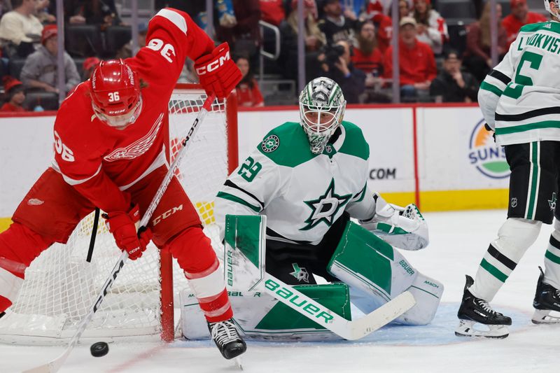
{"label": "goalie's white and green catching glove, beside his right hip", "polygon": [[370,219],[360,220],[362,227],[397,248],[412,251],[428,246],[428,225],[415,204],[388,204],[377,193],[373,199],[375,213]]}

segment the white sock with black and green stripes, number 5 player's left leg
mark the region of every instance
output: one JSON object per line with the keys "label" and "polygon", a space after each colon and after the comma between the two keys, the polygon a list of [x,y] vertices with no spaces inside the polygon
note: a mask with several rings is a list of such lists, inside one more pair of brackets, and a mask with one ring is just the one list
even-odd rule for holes
{"label": "white sock with black and green stripes, number 5 player's left leg", "polygon": [[537,220],[508,218],[498,230],[498,239],[489,245],[475,276],[470,293],[491,302],[512,274],[521,257],[535,242],[542,223]]}

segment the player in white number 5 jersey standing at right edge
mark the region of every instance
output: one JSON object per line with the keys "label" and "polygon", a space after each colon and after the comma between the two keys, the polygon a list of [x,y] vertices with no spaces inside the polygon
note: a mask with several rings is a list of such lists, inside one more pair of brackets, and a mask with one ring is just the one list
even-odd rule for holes
{"label": "player in white number 5 jersey standing at right edge", "polygon": [[[545,0],[552,20],[521,27],[504,59],[480,85],[478,102],[496,144],[510,165],[507,220],[491,241],[475,279],[467,276],[458,311],[459,336],[504,338],[510,317],[489,302],[537,239],[551,224],[533,307],[533,323],[559,323],[560,211],[556,210],[560,171],[560,0]],[[536,272],[536,271],[535,271]],[[551,314],[552,312],[552,314]],[[482,324],[482,328],[477,324]]]}

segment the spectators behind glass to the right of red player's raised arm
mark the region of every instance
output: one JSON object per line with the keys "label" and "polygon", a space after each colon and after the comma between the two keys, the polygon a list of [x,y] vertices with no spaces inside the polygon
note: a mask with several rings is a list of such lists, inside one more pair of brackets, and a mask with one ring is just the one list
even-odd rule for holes
{"label": "spectators behind glass to the right of red player's raised arm", "polygon": [[[464,48],[456,50],[447,22],[438,11],[438,1],[397,0],[401,101],[472,102],[479,82],[491,69],[491,24],[489,1],[472,0],[478,17],[465,27]],[[507,0],[505,0],[507,1]],[[162,1],[165,3],[165,1]],[[195,19],[204,17],[204,7],[190,6]],[[167,1],[172,5],[172,1]],[[197,3],[196,0],[190,3]],[[255,50],[266,43],[251,34],[257,19],[273,24],[281,34],[279,59],[272,66],[281,78],[297,81],[297,0],[217,0],[231,6],[234,26],[223,26],[218,12],[218,38],[228,29],[227,39],[235,54],[255,66]],[[306,80],[328,76],[339,83],[351,104],[390,102],[393,85],[393,15],[391,0],[303,0]],[[547,17],[528,11],[526,0],[510,0],[510,13],[503,17],[504,0],[498,0],[498,59],[524,24],[544,22]],[[194,13],[193,13],[193,10]],[[238,17],[239,13],[239,17]],[[259,16],[257,16],[260,14]],[[229,20],[229,19],[228,19]],[[244,24],[243,32],[237,31]],[[244,35],[233,37],[234,35]],[[253,38],[248,43],[246,38]],[[226,40],[225,38],[221,40]],[[239,43],[236,45],[236,43]],[[272,64],[265,64],[271,66]],[[255,71],[255,69],[252,69]],[[264,71],[265,73],[267,71]],[[261,73],[258,71],[258,73]]]}

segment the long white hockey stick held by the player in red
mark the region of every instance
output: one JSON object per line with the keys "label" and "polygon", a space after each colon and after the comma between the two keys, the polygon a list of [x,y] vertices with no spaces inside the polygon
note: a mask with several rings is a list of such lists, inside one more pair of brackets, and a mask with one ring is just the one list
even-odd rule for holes
{"label": "long white hockey stick held by the player in red", "polygon": [[[146,225],[148,225],[148,221],[152,217],[153,211],[155,211],[155,208],[160,203],[160,200],[162,199],[165,190],[167,190],[167,186],[172,181],[172,178],[175,175],[176,169],[179,167],[179,164],[181,164],[181,160],[183,160],[183,157],[185,157],[186,155],[187,142],[195,135],[195,132],[198,129],[198,125],[206,117],[208,111],[211,108],[212,102],[214,102],[214,99],[216,99],[216,95],[211,94],[206,99],[206,101],[204,101],[204,105],[200,109],[197,118],[193,122],[193,125],[188,130],[187,136],[185,136],[183,141],[181,141],[181,145],[182,145],[181,150],[179,150],[179,153],[177,154],[175,160],[171,164],[171,167],[169,167],[169,170],[167,170],[167,174],[165,174],[165,178],[162,180],[162,183],[160,184],[160,188],[158,188],[158,190],[155,192],[155,196],[153,197],[150,206],[148,206],[146,213],[144,213],[142,220],[140,220],[140,227],[138,230],[139,233],[142,232],[142,230],[146,229]],[[105,295],[111,289],[113,282],[117,279],[118,273],[120,272],[120,269],[123,268],[123,266],[125,265],[127,259],[128,259],[128,252],[123,251],[123,254],[120,255],[120,258],[118,258],[117,264],[115,265],[115,267],[113,267],[113,270],[111,270],[111,274],[109,274],[109,278],[105,281],[102,290],[99,292],[99,295],[97,295],[94,304],[92,304],[90,311],[87,313],[87,315],[85,315],[83,320],[80,322],[80,325],[78,325],[78,328],[76,329],[76,333],[73,335],[72,339],[70,340],[68,347],[66,347],[66,351],[64,351],[64,353],[62,353],[62,355],[59,356],[58,358],[55,358],[55,360],[51,360],[49,363],[39,365],[38,367],[34,367],[30,370],[25,370],[23,373],[55,373],[60,369],[60,367],[62,367],[62,364],[64,364],[64,361],[69,356],[74,346],[76,346],[76,344],[78,343],[78,339],[80,339],[80,336],[84,332],[85,328],[87,328],[87,324],[90,323],[90,321],[93,318],[93,315],[95,314],[95,312],[97,312],[97,309],[99,309],[99,306],[102,304],[103,300],[105,299]]]}

